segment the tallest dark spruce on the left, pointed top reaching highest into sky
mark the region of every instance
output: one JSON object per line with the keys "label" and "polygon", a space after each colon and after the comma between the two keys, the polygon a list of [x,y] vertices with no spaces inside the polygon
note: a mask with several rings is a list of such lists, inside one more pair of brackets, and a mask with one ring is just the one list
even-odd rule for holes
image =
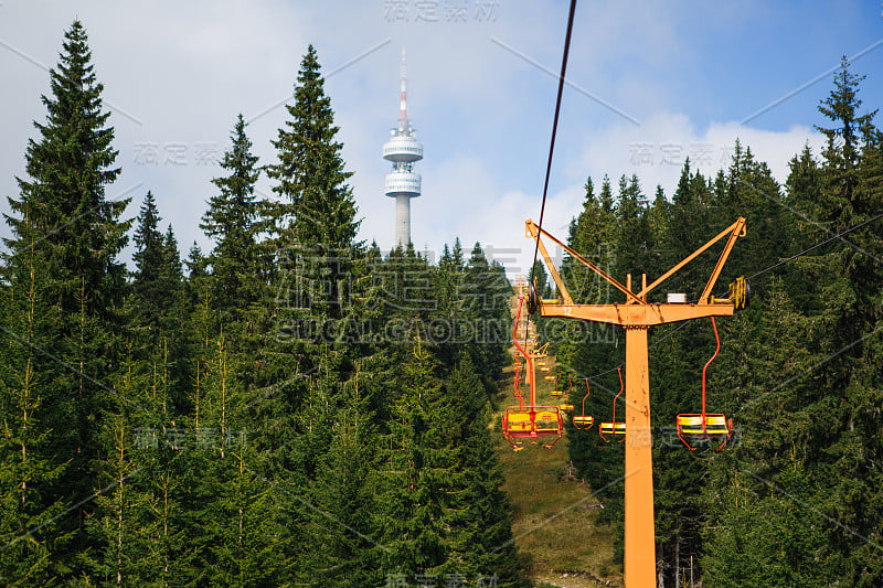
{"label": "tallest dark spruce on the left, pointed top reaching highest into sky", "polygon": [[[63,46],[50,74],[52,95],[43,97],[46,122],[34,124],[41,139],[31,140],[25,154],[30,179],[19,179],[20,197],[10,199],[13,214],[7,216],[12,287],[28,279],[30,271],[23,269],[32,264],[42,281],[40,306],[46,309],[39,318],[43,324],[35,325],[43,333],[43,353],[33,357],[33,371],[45,377],[45,386],[34,391],[43,407],[35,417],[49,436],[49,455],[67,461],[41,493],[45,507],[76,503],[104,483],[97,423],[109,397],[103,383],[111,382],[118,368],[126,270],[117,256],[130,225],[119,220],[128,200],[105,196],[119,174],[113,167],[114,129],[105,126],[109,113],[102,111],[103,86],[79,21],[65,33]],[[24,373],[26,367],[15,370]],[[72,576],[78,575],[78,556],[89,547],[82,524],[93,509],[79,504],[60,521],[60,528],[76,533],[57,554]]]}

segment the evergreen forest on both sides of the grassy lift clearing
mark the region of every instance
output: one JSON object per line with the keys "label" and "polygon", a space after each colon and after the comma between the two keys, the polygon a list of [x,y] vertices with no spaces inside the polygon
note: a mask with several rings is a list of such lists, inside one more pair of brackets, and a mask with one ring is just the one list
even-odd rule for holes
{"label": "evergreen forest on both sides of the grassy lift clearing", "polygon": [[[711,322],[650,331],[660,586],[685,586],[688,562],[711,587],[883,585],[883,132],[851,67],[820,99],[827,146],[784,184],[736,142],[714,177],[688,160],[672,194],[588,179],[561,235],[617,279],[655,278],[747,220],[721,282],[745,276],[751,304],[717,321],[709,367],[710,411],[736,427],[722,451],[672,432],[699,408]],[[0,584],[531,586],[501,490],[507,270],[456,236],[437,259],[359,240],[315,49],[275,160],[231,116],[213,246],[185,254],[150,191],[131,218],[106,195],[118,152],[79,21],[50,76],[4,217]],[[720,250],[666,290],[698,298]],[[620,301],[567,255],[561,274],[577,302]],[[532,320],[606,419],[621,331]],[[566,437],[621,559],[623,447]]]}

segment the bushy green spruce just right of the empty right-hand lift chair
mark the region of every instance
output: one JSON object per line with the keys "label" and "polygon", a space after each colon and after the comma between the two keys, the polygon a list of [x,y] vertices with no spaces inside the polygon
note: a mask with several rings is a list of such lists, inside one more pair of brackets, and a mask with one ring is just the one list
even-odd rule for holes
{"label": "bushy green spruce just right of the empty right-hand lift chair", "polygon": [[817,490],[798,449],[813,418],[805,410],[800,376],[822,357],[808,349],[812,322],[779,284],[774,280],[763,308],[753,304],[731,319],[728,348],[740,352],[723,354],[709,383],[730,391],[722,406],[736,421],[730,447],[710,460],[702,489],[701,566],[714,585],[827,586],[838,577],[825,555]]}

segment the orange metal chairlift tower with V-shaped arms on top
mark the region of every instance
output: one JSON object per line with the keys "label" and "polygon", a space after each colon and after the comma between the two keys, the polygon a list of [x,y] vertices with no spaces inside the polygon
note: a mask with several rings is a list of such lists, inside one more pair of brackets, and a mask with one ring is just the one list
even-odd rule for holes
{"label": "orange metal chairlift tower with V-shaped arms on top", "polygon": [[[716,237],[690,254],[681,263],[666,271],[652,284],[647,284],[647,276],[641,277],[641,289],[631,290],[631,275],[621,285],[592,261],[567,247],[546,231],[536,226],[530,218],[525,222],[525,236],[536,240],[540,253],[552,274],[561,298],[542,300],[534,284],[528,297],[528,311],[533,313],[539,308],[542,317],[558,317],[589,322],[618,324],[626,331],[626,542],[625,542],[625,580],[627,588],[656,587],[656,544],[653,527],[653,458],[650,436],[650,374],[647,363],[647,330],[657,324],[687,321],[703,317],[730,317],[736,309],[745,307],[747,285],[740,278],[730,287],[730,298],[715,299],[711,296],[714,282],[721,275],[733,244],[737,237],[745,236],[745,218],[722,231]],[[702,290],[699,300],[687,303],[670,297],[667,303],[648,302],[647,295],[657,286],[674,275],[683,266],[692,261],[709,247],[726,237],[726,245],[712,271],[709,282]],[[574,259],[585,264],[593,271],[609,281],[626,295],[624,303],[613,304],[576,304],[567,292],[567,288],[555,269],[552,259],[542,243],[542,236],[549,239]]]}

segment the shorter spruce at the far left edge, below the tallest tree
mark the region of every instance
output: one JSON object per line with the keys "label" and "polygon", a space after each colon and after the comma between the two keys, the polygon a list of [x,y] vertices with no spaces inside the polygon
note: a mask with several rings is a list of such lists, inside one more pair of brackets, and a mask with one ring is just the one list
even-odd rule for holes
{"label": "shorter spruce at the far left edge, below the tallest tree", "polygon": [[50,334],[49,304],[39,295],[44,276],[34,264],[36,235],[32,232],[23,259],[11,265],[21,275],[11,275],[0,308],[0,541],[4,545],[0,581],[49,585],[64,569],[57,552],[64,548],[66,536],[55,523],[63,511],[62,499],[47,489],[64,466],[51,452],[52,431],[42,423],[50,407],[44,406],[40,391],[51,382],[35,366]]}

